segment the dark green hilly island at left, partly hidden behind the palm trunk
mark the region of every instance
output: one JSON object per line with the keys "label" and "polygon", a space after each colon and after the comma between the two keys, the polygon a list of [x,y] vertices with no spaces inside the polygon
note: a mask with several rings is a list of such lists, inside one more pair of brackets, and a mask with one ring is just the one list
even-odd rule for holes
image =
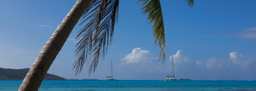
{"label": "dark green hilly island at left, partly hidden behind the palm trunk", "polygon": [[[5,69],[0,68],[0,80],[23,80],[30,68],[25,69]],[[63,77],[46,73],[43,80],[66,80]]]}

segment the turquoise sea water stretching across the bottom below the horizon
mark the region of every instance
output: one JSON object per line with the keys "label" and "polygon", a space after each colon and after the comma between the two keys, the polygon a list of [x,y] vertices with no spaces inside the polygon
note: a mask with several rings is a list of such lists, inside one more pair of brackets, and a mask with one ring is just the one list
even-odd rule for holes
{"label": "turquoise sea water stretching across the bottom below the horizon", "polygon": [[[181,82],[159,82],[160,80],[118,80],[106,82],[103,80],[44,80],[39,91],[256,91],[256,81],[213,81],[191,80]],[[0,80],[1,91],[17,91],[22,80]]]}

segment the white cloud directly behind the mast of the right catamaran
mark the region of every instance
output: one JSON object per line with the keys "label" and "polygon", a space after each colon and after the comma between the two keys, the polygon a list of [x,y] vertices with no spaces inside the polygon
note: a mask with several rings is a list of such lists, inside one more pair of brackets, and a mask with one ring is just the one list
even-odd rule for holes
{"label": "white cloud directly behind the mast of the right catamaran", "polygon": [[[169,60],[171,60],[171,56]],[[180,64],[180,63],[186,63],[191,60],[187,56],[184,56],[181,50],[178,50],[178,52],[175,55],[173,55],[173,61],[174,63]]]}

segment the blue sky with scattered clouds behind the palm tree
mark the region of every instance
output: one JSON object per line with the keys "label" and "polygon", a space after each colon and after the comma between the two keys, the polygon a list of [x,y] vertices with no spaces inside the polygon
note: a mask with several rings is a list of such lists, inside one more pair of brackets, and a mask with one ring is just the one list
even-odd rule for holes
{"label": "blue sky with scattered clouds behind the palm tree", "polygon": [[[0,1],[0,67],[30,68],[47,40],[74,6],[73,1]],[[65,78],[105,79],[113,60],[118,80],[164,80],[171,74],[192,80],[256,80],[256,1],[161,0],[166,60],[161,66],[152,24],[136,0],[119,2],[118,24],[105,59],[88,77],[73,72],[75,26],[48,73]],[[78,22],[80,23],[80,22]]]}

